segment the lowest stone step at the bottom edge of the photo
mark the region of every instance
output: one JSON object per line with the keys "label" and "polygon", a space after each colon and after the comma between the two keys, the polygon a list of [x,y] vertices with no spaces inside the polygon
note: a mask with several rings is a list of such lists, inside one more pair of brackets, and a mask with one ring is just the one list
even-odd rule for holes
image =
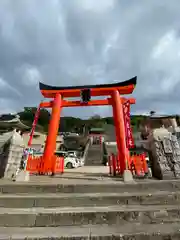
{"label": "lowest stone step at the bottom edge of the photo", "polygon": [[170,224],[126,224],[123,226],[86,225],[71,227],[0,228],[0,239],[4,240],[179,240],[179,223]]}

